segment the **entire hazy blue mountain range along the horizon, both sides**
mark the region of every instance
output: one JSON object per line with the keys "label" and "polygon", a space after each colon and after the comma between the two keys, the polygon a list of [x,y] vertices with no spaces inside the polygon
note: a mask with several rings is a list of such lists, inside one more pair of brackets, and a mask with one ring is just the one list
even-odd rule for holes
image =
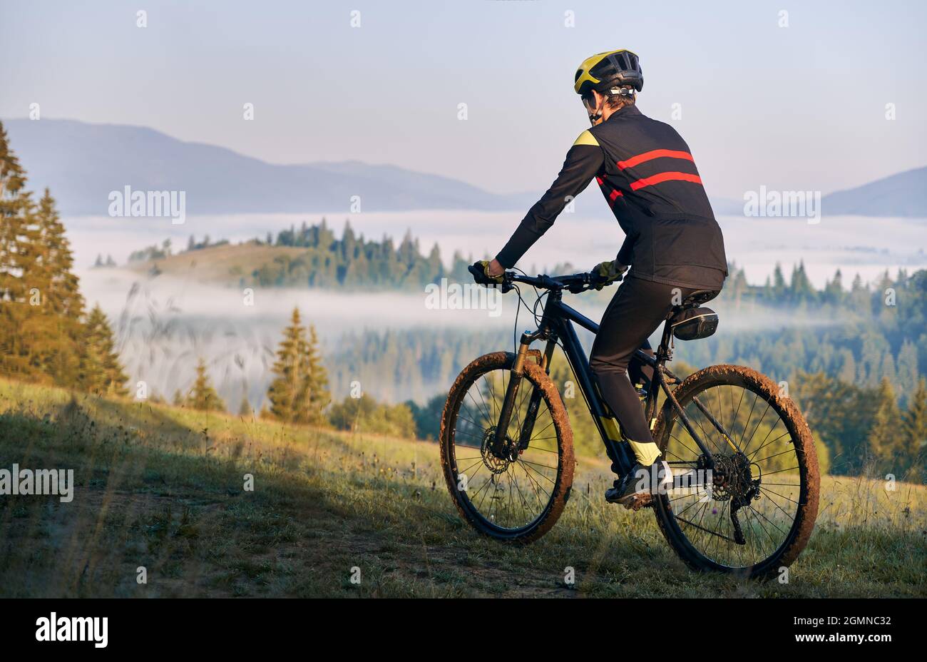
{"label": "entire hazy blue mountain range along the horizon, both sides", "polygon": [[[50,186],[65,215],[105,215],[109,192],[126,185],[185,191],[187,214],[347,212],[353,196],[361,197],[364,211],[524,212],[541,193],[498,195],[450,177],[360,161],[278,165],[137,126],[24,119],[4,124],[30,187]],[[609,214],[596,188],[577,198],[577,213]],[[743,201],[713,198],[712,204],[718,215],[743,214]],[[834,215],[927,217],[927,168],[832,193],[821,207]]]}

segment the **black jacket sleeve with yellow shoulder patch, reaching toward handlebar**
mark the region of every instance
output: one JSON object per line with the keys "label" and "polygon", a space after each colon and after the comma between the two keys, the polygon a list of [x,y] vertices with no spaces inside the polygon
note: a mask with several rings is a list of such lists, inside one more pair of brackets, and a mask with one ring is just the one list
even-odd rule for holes
{"label": "black jacket sleeve with yellow shoulder patch, reaching toward handlebar", "polygon": [[540,200],[528,210],[527,216],[518,224],[512,238],[496,256],[506,269],[514,266],[528,248],[547,232],[564,210],[567,198],[578,196],[591,179],[602,168],[604,154],[590,132],[585,131],[566,152],[564,167],[556,180]]}

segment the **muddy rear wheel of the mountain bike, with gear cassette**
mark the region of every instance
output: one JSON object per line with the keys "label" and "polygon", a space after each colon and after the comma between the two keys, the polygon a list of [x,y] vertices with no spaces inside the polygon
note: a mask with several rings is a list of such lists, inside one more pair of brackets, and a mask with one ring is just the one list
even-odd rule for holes
{"label": "muddy rear wheel of the mountain bike, with gear cassette", "polygon": [[715,463],[706,471],[705,453],[665,402],[654,441],[678,478],[654,503],[664,536],[694,569],[775,575],[805,548],[818,516],[818,455],[804,417],[771,379],[741,365],[700,370],[673,394]]}

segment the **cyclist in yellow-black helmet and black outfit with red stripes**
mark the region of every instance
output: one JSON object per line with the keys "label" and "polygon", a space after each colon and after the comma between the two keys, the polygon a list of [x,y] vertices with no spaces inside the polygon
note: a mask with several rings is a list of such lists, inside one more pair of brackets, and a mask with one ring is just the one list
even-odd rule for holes
{"label": "cyclist in yellow-black helmet and black outfit with red stripes", "polygon": [[[621,425],[637,464],[605,492],[609,503],[631,507],[654,487],[672,481],[644,418],[640,397],[628,372],[634,352],[650,350],[647,338],[674,305],[695,290],[720,291],[728,275],[724,239],[705,195],[689,146],[668,124],[652,120],[636,105],[643,89],[637,55],[621,49],[583,60],[574,78],[591,128],[579,134],[551,187],[527,212],[512,238],[492,261],[480,262],[490,279],[502,280],[566,204],[592,178],[625,233],[616,260],[593,273],[599,288],[630,267],[608,304],[592,345],[590,367],[603,399]],[[630,364],[632,373],[640,365]],[[638,376],[638,375],[634,375]],[[655,471],[654,469],[655,465]],[[617,472],[617,467],[613,465]]]}

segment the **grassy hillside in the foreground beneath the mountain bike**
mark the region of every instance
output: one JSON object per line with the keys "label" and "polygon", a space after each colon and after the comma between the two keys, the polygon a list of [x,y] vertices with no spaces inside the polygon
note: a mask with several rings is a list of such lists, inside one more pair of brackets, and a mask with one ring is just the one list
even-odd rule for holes
{"label": "grassy hillside in the foreground beneath the mountain bike", "polygon": [[13,463],[73,468],[77,487],[71,503],[0,496],[3,595],[927,595],[923,486],[825,477],[818,528],[780,584],[683,567],[649,510],[603,502],[601,458],[579,459],[564,516],[527,547],[464,527],[425,441],[0,379],[0,468]]}

